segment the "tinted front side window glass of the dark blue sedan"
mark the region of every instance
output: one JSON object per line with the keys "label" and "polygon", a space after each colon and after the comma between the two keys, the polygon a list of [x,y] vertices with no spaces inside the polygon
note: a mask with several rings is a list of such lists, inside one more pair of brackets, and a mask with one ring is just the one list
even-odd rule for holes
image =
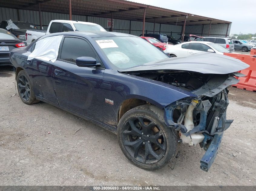
{"label": "tinted front side window glass of the dark blue sedan", "polygon": [[85,40],[66,37],[62,45],[60,59],[75,63],[76,58],[82,56],[93,57],[99,62],[91,46]]}

